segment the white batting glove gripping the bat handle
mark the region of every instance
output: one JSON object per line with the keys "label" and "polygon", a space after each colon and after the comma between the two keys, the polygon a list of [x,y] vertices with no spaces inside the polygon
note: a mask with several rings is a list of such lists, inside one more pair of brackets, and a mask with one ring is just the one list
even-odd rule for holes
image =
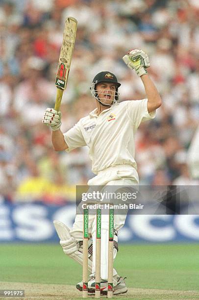
{"label": "white batting glove gripping the bat handle", "polygon": [[46,125],[49,125],[52,131],[59,130],[61,123],[62,114],[60,111],[56,111],[53,108],[47,108],[43,117],[42,122]]}

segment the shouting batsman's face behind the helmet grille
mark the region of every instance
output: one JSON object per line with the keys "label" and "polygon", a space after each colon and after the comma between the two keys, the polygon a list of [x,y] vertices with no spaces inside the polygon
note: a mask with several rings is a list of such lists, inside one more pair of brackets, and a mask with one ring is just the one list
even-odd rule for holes
{"label": "shouting batsman's face behind the helmet grille", "polygon": [[105,104],[112,104],[115,98],[116,85],[111,82],[100,82],[96,85],[97,97]]}

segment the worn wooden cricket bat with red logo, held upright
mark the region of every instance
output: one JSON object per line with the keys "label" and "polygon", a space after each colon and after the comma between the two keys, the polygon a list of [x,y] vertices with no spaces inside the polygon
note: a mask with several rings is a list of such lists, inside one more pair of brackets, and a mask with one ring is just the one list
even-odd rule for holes
{"label": "worn wooden cricket bat with red logo, held upright", "polygon": [[54,109],[59,111],[63,92],[66,89],[69,71],[71,67],[71,60],[73,55],[73,49],[75,45],[75,36],[77,29],[77,21],[73,17],[66,19],[63,42],[59,55],[59,64],[55,80],[55,86],[57,87],[57,96]]}

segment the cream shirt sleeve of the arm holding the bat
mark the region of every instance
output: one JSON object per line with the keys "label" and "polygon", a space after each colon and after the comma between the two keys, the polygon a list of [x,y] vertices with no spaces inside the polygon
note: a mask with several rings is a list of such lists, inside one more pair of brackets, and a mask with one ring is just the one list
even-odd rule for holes
{"label": "cream shirt sleeve of the arm holding the bat", "polygon": [[68,145],[66,152],[70,152],[71,150],[74,150],[78,147],[86,146],[86,142],[80,128],[81,124],[79,121],[77,124],[75,124],[75,126],[64,133],[64,139],[66,144]]}

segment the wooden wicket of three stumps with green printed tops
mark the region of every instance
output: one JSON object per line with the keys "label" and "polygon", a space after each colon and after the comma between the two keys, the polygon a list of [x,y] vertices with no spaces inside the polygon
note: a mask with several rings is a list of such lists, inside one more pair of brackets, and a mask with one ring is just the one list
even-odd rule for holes
{"label": "wooden wicket of three stumps with green printed tops", "polygon": [[[87,204],[98,202],[90,201]],[[101,204],[101,203],[100,203]],[[107,204],[107,203],[103,203]],[[109,204],[109,238],[108,238],[108,284],[107,298],[113,297],[113,238],[114,238],[114,209]],[[88,208],[84,208],[83,214],[83,288],[82,297],[88,297]],[[101,209],[96,210],[96,274],[95,274],[95,298],[100,298],[100,258],[101,258]]]}

